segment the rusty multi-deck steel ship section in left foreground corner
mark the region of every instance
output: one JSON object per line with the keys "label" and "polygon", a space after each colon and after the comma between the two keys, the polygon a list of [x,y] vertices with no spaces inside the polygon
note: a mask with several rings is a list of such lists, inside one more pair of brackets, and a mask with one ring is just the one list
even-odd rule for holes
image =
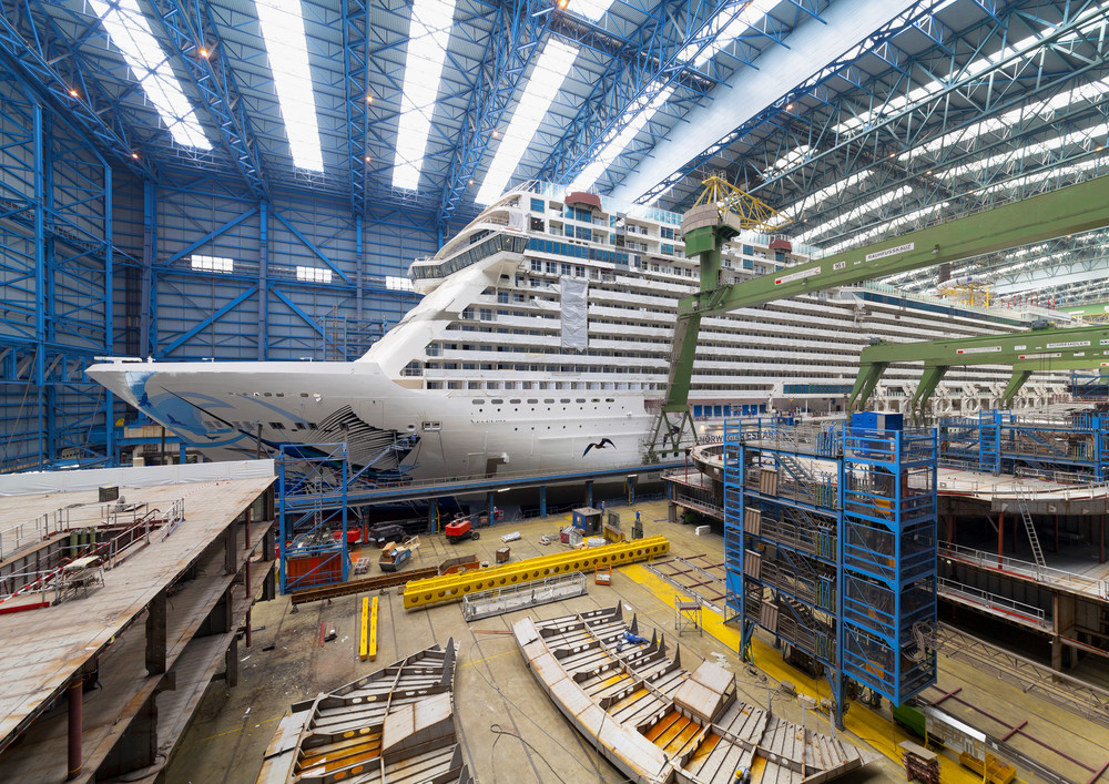
{"label": "rusty multi-deck steel ship section in left foreground corner", "polygon": [[[4,782],[153,776],[169,762],[217,671],[234,685],[237,635],[255,597],[272,593],[273,481],[269,460],[0,477],[9,542],[21,523],[114,506],[99,500],[104,485],[119,487],[122,506],[184,509],[175,527],[153,527],[112,553],[103,584],[87,595],[53,604],[52,590],[29,599],[24,590],[0,604],[24,608],[0,615],[0,637],[18,641],[0,658]],[[41,491],[14,495],[27,488]],[[77,536],[54,531],[50,541]],[[42,548],[24,537],[0,567],[32,551]]]}

